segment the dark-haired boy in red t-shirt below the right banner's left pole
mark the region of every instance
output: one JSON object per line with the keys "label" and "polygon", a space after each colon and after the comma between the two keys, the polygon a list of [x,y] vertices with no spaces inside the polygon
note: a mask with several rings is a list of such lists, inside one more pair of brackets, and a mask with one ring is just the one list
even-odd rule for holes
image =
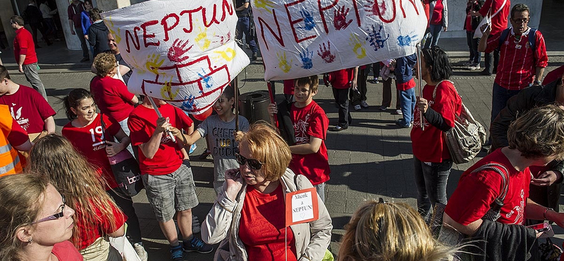
{"label": "dark-haired boy in red t-shirt below the right banner's left pole", "polygon": [[[319,78],[317,75],[296,79],[290,118],[294,126],[295,145],[290,146],[292,161],[289,168],[302,174],[316,188],[319,198],[325,202],[325,182],[329,181],[329,155],[325,146],[329,119],[325,111],[314,102]],[[278,113],[276,104],[269,105],[269,115],[274,122]]]}

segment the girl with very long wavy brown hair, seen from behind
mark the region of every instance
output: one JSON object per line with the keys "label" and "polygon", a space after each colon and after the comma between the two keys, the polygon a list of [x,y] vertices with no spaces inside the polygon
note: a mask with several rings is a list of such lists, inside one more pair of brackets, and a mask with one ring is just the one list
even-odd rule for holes
{"label": "girl with very long wavy brown hair, seen from behind", "polygon": [[119,260],[108,237],[123,236],[125,215],[104,191],[99,174],[66,138],[49,134],[30,152],[31,171],[47,174],[76,210],[71,242],[85,260]]}

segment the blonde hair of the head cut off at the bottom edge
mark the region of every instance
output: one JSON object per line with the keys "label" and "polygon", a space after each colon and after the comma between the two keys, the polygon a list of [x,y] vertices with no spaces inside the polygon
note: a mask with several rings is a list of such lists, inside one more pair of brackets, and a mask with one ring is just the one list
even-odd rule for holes
{"label": "blonde hair of the head cut off at the bottom edge", "polygon": [[345,226],[338,261],[437,261],[454,253],[409,205],[369,200]]}

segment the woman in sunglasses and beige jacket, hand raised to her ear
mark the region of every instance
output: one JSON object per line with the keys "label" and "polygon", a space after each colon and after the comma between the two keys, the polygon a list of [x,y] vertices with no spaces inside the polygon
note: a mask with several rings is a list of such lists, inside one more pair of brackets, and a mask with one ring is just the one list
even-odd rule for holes
{"label": "woman in sunglasses and beige jacket, hand raised to her ear", "polygon": [[286,193],[313,188],[305,176],[287,168],[290,148],[266,123],[238,134],[240,167],[226,171],[223,189],[202,225],[204,241],[221,241],[215,260],[321,260],[333,226],[319,196],[319,219],[285,226]]}

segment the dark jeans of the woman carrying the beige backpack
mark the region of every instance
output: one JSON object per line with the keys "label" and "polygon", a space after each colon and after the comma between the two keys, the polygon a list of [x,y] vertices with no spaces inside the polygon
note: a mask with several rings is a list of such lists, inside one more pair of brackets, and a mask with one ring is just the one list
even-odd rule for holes
{"label": "dark jeans of the woman carrying the beige backpack", "polygon": [[436,202],[446,205],[446,183],[453,161],[443,160],[441,163],[421,162],[413,157],[415,162],[415,184],[417,185],[417,210],[425,219],[429,220],[431,208]]}

